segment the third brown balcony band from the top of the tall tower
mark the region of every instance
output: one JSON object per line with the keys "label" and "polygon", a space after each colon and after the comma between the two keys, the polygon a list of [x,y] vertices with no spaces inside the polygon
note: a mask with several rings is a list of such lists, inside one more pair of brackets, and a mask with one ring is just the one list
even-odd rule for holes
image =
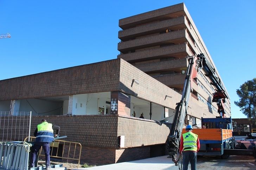
{"label": "third brown balcony band from the top of the tall tower", "polygon": [[166,44],[179,44],[187,41],[186,30],[181,29],[170,33],[152,35],[147,37],[138,38],[135,40],[120,42],[117,45],[117,49],[122,53],[127,53],[131,50],[155,47],[158,45]]}

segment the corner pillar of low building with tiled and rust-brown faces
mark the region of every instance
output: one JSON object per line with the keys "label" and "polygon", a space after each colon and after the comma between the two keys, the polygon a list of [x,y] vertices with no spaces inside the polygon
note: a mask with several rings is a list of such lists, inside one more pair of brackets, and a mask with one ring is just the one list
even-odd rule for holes
{"label": "corner pillar of low building with tiled and rust-brown faces", "polygon": [[111,92],[110,114],[130,116],[131,97],[120,91]]}

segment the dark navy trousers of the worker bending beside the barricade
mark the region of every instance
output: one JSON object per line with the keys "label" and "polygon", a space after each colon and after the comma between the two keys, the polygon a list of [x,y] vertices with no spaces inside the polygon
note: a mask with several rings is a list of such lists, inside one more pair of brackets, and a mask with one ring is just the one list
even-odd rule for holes
{"label": "dark navy trousers of the worker bending beside the barricade", "polygon": [[36,142],[30,157],[30,167],[35,167],[36,155],[40,148],[43,147],[45,154],[45,165],[50,167],[50,143],[49,142]]}

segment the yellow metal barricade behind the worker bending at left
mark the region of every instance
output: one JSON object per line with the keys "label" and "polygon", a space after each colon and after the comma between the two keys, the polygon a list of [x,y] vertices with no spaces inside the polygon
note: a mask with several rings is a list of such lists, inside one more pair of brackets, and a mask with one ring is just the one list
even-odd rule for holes
{"label": "yellow metal barricade behind the worker bending at left", "polygon": [[[28,141],[28,137],[25,138],[24,141]],[[30,136],[30,142],[34,141],[36,139],[36,137],[32,137]],[[72,148],[74,146],[74,148]],[[81,157],[81,151],[82,151],[82,145],[81,143],[78,142],[70,142],[70,141],[63,141],[63,140],[54,140],[54,142],[52,142],[50,144],[50,147],[52,147],[51,152],[50,152],[50,157],[52,158],[61,158],[64,160],[75,160],[78,161],[78,165],[77,168],[79,168],[79,164],[80,164],[80,157]],[[79,147],[79,148],[77,148]],[[53,148],[55,148],[56,154],[53,153]],[[59,152],[59,148],[62,148],[62,153]],[[79,153],[76,152],[76,150],[78,150]],[[39,156],[45,156],[44,154],[41,154],[42,148],[39,151]],[[60,153],[61,156],[58,154]],[[75,158],[76,154],[79,154],[78,158]]]}

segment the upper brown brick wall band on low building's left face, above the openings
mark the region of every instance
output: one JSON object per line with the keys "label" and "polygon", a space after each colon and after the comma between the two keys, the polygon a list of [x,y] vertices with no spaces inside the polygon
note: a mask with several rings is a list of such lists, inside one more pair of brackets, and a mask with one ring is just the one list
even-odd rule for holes
{"label": "upper brown brick wall band on low building's left face, above the openings", "polygon": [[117,90],[120,59],[0,81],[0,100]]}

